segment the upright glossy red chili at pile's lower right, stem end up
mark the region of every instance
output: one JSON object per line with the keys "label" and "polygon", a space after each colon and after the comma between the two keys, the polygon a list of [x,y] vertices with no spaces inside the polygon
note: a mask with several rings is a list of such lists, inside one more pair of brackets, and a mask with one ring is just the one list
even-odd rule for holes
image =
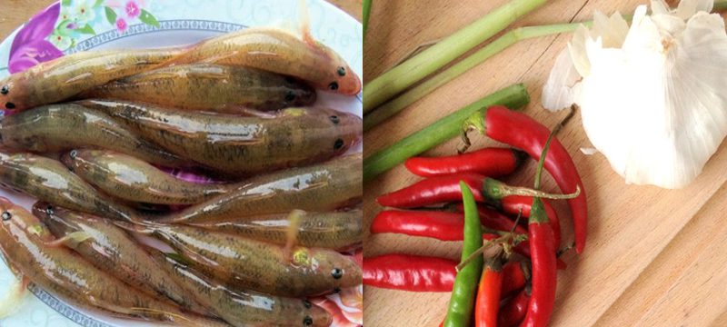
{"label": "upright glossy red chili at pile's lower right, stem end up", "polygon": [[553,229],[540,198],[533,200],[533,212],[528,223],[530,258],[533,263],[533,293],[521,326],[547,326],[555,304],[556,258]]}

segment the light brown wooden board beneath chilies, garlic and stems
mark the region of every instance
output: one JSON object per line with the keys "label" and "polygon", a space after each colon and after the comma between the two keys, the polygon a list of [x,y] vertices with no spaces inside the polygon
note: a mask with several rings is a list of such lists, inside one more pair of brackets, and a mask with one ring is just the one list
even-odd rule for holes
{"label": "light brown wooden board beneath chilies, garlic and stems", "polygon": [[[503,5],[490,1],[375,1],[365,38],[365,79],[391,67],[417,45],[452,34]],[[646,0],[553,0],[516,25],[541,25],[589,20],[594,10],[632,13]],[[365,135],[365,155],[393,144],[454,110],[514,83],[527,84],[532,102],[524,111],[552,126],[563,113],[550,114],[540,105],[541,90],[557,54],[570,35],[543,37],[513,45],[485,64],[429,94],[402,114]],[[365,100],[364,100],[365,101]],[[617,133],[618,126],[613,126]],[[558,276],[553,326],[727,326],[727,146],[682,190],[626,185],[600,154],[590,147],[580,116],[559,135],[573,155],[588,192],[589,239],[582,255],[568,253],[568,269]],[[458,141],[428,155],[453,154]],[[475,148],[482,147],[482,137]],[[532,185],[534,163],[508,182]],[[365,187],[365,226],[382,210],[377,194],[390,192],[419,178],[402,166]],[[557,190],[552,180],[546,183]],[[573,240],[567,207],[557,207],[563,239]],[[413,253],[459,258],[460,244],[401,235],[365,237],[365,255]],[[442,321],[448,293],[398,292],[365,287],[364,316],[368,326],[435,326]]]}

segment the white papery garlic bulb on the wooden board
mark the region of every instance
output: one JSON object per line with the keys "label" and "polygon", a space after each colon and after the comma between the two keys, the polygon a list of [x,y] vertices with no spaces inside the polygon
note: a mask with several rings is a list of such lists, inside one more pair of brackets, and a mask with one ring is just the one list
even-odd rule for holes
{"label": "white papery garlic bulb on the wooden board", "polygon": [[712,0],[639,6],[629,27],[596,13],[556,60],[543,107],[582,108],[583,129],[626,183],[690,183],[727,135],[727,34]]}

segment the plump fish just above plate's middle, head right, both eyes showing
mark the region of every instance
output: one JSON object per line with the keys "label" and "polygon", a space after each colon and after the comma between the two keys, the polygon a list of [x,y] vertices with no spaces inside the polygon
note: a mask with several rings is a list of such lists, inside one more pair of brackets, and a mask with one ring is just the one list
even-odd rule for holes
{"label": "plump fish just above plate's middle, head right, both eyes showing", "polygon": [[118,101],[78,104],[109,114],[167,151],[227,176],[323,162],[344,154],[363,134],[361,117],[326,108],[241,117]]}

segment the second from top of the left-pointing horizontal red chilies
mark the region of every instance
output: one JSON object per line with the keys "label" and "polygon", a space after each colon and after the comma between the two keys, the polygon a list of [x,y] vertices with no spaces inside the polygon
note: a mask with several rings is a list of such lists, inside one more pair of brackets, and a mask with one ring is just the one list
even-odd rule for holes
{"label": "second from top of the left-pointing horizontal red chilies", "polygon": [[479,173],[455,173],[431,177],[399,191],[383,194],[376,198],[376,202],[394,208],[417,208],[437,203],[461,202],[460,181],[470,186],[475,201],[483,202],[480,190],[484,179],[485,176]]}

